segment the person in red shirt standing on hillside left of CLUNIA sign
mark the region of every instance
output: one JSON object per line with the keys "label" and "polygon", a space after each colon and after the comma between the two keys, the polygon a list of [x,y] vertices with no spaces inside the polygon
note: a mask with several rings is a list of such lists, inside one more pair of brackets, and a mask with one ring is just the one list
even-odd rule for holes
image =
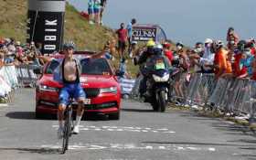
{"label": "person in red shirt standing on hillside left of CLUNIA sign", "polygon": [[118,36],[119,58],[122,59],[127,43],[127,29],[124,28],[124,23],[120,25],[120,28],[116,31],[116,34]]}

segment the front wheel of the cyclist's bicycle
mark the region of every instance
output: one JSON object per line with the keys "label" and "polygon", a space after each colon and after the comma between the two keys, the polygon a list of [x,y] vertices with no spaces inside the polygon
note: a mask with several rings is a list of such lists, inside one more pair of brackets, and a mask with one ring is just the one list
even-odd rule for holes
{"label": "front wheel of the cyclist's bicycle", "polygon": [[72,109],[68,109],[65,116],[64,134],[62,142],[62,154],[65,154],[69,149],[69,136],[71,135],[71,117]]}

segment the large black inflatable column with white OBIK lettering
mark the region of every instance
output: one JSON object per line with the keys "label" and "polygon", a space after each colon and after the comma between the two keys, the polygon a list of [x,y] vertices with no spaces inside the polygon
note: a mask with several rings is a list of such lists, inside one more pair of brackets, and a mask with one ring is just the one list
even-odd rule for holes
{"label": "large black inflatable column with white OBIK lettering", "polygon": [[29,0],[27,43],[34,41],[43,54],[58,51],[63,42],[65,0]]}

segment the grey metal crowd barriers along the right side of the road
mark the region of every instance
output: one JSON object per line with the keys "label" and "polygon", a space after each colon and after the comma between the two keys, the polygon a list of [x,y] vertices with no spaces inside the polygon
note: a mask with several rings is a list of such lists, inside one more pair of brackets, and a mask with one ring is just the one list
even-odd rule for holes
{"label": "grey metal crowd barriers along the right side of the road", "polygon": [[256,112],[256,81],[233,78],[214,79],[211,74],[194,74],[187,87],[189,105],[211,104],[223,112],[248,114]]}

